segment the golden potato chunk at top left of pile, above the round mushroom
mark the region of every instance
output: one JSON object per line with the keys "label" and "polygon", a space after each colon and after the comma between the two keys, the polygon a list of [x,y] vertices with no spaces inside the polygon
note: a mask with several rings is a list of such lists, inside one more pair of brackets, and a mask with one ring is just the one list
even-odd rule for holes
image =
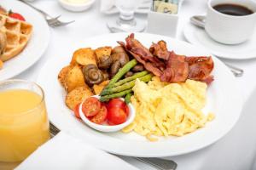
{"label": "golden potato chunk at top left of pile, above the round mushroom", "polygon": [[96,65],[96,55],[91,48],[79,48],[73,53],[71,65]]}

